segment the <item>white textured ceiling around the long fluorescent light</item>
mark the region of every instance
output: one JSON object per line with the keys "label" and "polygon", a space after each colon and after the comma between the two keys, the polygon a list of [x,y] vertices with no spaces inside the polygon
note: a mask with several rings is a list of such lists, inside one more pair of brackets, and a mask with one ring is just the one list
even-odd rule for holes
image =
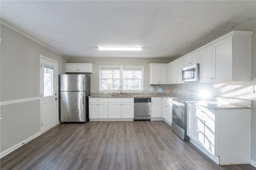
{"label": "white textured ceiling around the long fluorescent light", "polygon": [[1,0],[2,22],[68,57],[176,58],[255,15],[256,1]]}

